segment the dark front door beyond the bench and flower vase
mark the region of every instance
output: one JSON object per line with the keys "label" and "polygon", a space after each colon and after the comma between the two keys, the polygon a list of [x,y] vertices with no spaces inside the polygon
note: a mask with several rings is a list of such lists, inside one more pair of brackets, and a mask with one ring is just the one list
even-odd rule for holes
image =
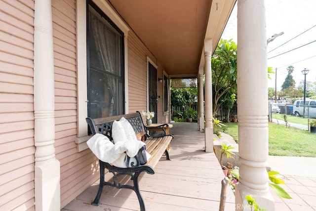
{"label": "dark front door beyond the bench and flower vase", "polygon": [[148,62],[149,111],[155,112],[153,123],[157,123],[157,69]]}

